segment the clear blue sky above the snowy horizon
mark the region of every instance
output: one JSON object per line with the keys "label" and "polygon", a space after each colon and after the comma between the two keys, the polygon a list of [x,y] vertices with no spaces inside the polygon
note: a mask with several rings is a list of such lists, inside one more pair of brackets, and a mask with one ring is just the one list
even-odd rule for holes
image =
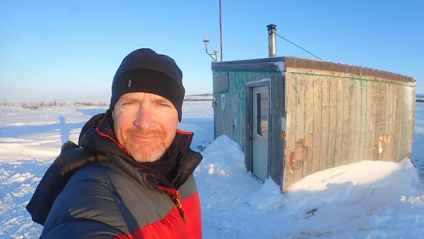
{"label": "clear blue sky above the snowy horizon", "polygon": [[[423,0],[222,0],[223,58],[268,57],[275,24],[323,60],[412,76],[424,93],[423,12]],[[0,0],[0,102],[107,102],[138,48],[174,58],[186,94],[212,92],[205,36],[220,48],[218,0]],[[314,59],[279,37],[276,46]]]}

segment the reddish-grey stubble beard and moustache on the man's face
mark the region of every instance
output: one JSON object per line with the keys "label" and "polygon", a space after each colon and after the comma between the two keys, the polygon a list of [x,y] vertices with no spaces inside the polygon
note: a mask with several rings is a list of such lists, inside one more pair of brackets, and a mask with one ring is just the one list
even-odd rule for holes
{"label": "reddish-grey stubble beard and moustache on the man's face", "polygon": [[[140,135],[139,132],[135,132]],[[127,134],[131,135],[131,132],[127,132]],[[160,132],[151,132],[146,133],[144,135],[158,135]],[[163,138],[163,134],[160,134]],[[152,143],[134,143],[131,140],[126,140],[122,145],[126,150],[131,153],[131,156],[140,163],[143,162],[155,162],[159,160],[167,149],[163,140],[159,140],[157,142]]]}

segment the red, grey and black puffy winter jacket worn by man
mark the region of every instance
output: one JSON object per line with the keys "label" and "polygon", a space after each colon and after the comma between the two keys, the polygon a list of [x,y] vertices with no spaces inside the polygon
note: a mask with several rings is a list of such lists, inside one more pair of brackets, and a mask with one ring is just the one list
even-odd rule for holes
{"label": "red, grey and black puffy winter jacket worn by man", "polygon": [[[193,134],[178,131],[177,171],[167,180],[137,163],[114,140],[110,111],[91,118],[79,145],[67,142],[27,205],[44,225],[40,238],[200,239],[201,212],[192,172],[202,156]],[[174,154],[173,154],[174,155]]]}

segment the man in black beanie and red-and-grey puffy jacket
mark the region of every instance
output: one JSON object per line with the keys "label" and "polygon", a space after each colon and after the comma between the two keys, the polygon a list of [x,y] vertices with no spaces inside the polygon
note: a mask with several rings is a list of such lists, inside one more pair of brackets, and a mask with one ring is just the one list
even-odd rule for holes
{"label": "man in black beanie and red-and-grey puffy jacket", "polygon": [[30,203],[40,238],[200,239],[192,172],[202,156],[177,129],[182,71],[168,56],[138,49],[112,83],[109,109],[68,141]]}

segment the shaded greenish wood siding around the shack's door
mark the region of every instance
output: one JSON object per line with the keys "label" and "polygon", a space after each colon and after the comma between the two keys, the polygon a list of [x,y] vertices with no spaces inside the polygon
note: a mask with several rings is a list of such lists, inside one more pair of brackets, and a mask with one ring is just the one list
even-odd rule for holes
{"label": "shaded greenish wood siding around the shack's door", "polygon": [[[224,68],[223,66],[222,68]],[[246,118],[249,113],[249,105],[246,105],[246,84],[270,79],[271,104],[269,143],[270,143],[270,175],[277,184],[282,181],[284,144],[281,138],[281,117],[284,115],[284,79],[282,72],[275,71],[248,71],[235,70],[234,66],[227,66],[228,70],[214,70],[214,75],[226,72],[228,74],[228,91],[213,94],[216,106],[214,113],[214,135],[215,138],[226,135],[237,142],[245,153],[245,164],[248,171],[250,165],[250,145],[248,144],[250,118]],[[236,66],[237,68],[237,66]],[[212,68],[213,69],[213,68]],[[225,108],[222,110],[221,97],[225,96]],[[234,105],[238,103],[237,105]],[[238,111],[235,109],[238,108]]]}

